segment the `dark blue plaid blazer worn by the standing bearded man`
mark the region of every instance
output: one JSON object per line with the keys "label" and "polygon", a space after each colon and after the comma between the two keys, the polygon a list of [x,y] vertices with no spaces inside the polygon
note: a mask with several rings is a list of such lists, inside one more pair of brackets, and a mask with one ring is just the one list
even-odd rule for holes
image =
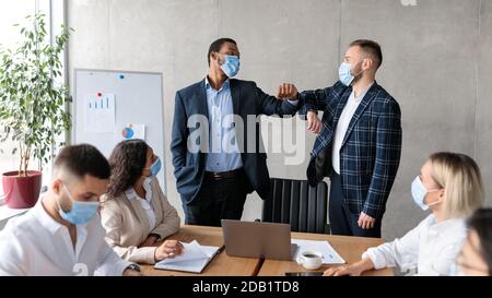
{"label": "dark blue plaid blazer worn by the standing bearded man", "polygon": [[[301,114],[323,110],[323,129],[316,138],[307,178],[316,184],[331,172],[335,130],[352,87],[337,82],[324,90],[300,93]],[[344,203],[353,214],[382,219],[401,155],[401,111],[398,103],[376,82],[355,110],[340,148],[340,178]],[[319,175],[316,158],[325,156]]]}

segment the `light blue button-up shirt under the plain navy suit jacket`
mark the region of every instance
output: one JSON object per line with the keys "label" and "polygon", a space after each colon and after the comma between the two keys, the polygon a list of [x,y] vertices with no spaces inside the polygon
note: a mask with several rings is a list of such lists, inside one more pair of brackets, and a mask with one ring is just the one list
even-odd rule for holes
{"label": "light blue button-up shirt under the plain navy suit jacket", "polygon": [[229,171],[243,167],[233,124],[233,102],[229,80],[216,91],[206,78],[207,107],[209,109],[209,153],[207,171]]}

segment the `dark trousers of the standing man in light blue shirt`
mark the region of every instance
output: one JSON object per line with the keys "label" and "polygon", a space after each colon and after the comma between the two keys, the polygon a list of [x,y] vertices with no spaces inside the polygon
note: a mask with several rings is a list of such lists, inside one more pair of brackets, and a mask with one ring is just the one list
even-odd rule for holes
{"label": "dark trousers of the standing man in light blue shirt", "polygon": [[241,219],[247,195],[244,171],[222,179],[203,178],[197,198],[185,210],[187,225],[220,227],[221,219]]}

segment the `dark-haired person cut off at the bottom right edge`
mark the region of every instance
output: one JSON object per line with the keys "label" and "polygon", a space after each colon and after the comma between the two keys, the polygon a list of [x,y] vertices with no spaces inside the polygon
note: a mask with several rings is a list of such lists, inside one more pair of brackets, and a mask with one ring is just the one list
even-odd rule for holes
{"label": "dark-haired person cut off at the bottom right edge", "polygon": [[492,208],[480,208],[467,220],[468,237],[458,257],[465,275],[492,276]]}

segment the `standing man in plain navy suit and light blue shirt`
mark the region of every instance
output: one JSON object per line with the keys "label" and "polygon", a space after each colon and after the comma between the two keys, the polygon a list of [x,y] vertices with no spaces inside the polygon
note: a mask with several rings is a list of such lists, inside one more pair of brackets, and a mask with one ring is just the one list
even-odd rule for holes
{"label": "standing man in plain navy suit and light blue shirt", "polygon": [[171,151],[186,224],[220,226],[223,218],[241,219],[247,193],[270,196],[259,123],[248,126],[248,118],[292,116],[302,105],[278,100],[255,82],[232,79],[239,70],[233,39],[213,41],[208,60],[208,75],[176,93]]}

